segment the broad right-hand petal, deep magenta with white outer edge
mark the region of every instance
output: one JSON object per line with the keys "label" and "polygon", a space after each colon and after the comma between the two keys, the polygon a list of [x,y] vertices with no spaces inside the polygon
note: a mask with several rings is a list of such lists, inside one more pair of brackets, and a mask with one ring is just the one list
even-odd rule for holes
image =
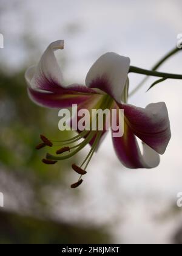
{"label": "broad right-hand petal, deep magenta with white outer edge", "polygon": [[124,109],[132,132],[150,148],[164,154],[171,137],[166,104],[158,102],[149,104],[146,108],[123,104],[120,107]]}

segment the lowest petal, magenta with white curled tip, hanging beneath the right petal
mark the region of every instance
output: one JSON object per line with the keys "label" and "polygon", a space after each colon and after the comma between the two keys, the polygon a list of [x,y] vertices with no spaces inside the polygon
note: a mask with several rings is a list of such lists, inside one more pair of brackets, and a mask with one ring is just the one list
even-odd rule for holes
{"label": "lowest petal, magenta with white curled tip, hanging beneath the right petal", "polygon": [[[118,107],[115,105],[115,108]],[[143,143],[143,154],[141,154],[136,137],[126,122],[124,122],[123,137],[112,137],[112,140],[116,155],[127,168],[155,168],[160,163],[158,153],[145,143]]]}

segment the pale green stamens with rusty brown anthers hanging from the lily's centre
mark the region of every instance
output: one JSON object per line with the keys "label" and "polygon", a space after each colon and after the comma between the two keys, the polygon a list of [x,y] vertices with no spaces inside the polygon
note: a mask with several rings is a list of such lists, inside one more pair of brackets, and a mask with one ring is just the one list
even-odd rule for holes
{"label": "pale green stamens with rusty brown anthers hanging from the lily's centre", "polygon": [[[97,105],[97,108],[100,108],[101,110],[111,109],[113,104],[113,99],[110,98],[108,95],[103,96],[103,100],[99,102]],[[98,115],[92,116],[91,123],[93,121],[96,121],[98,124]],[[106,127],[106,119],[107,116],[103,116],[103,127]],[[83,130],[75,137],[72,137],[68,140],[49,140],[44,135],[41,135],[42,143],[38,144],[36,146],[36,149],[41,149],[44,146],[49,147],[58,147],[61,144],[61,148],[56,149],[56,155],[52,155],[47,153],[46,157],[42,159],[42,162],[48,165],[53,165],[61,160],[66,160],[67,158],[73,157],[73,155],[77,154],[79,151],[81,151],[83,148],[87,146],[87,144],[92,144],[92,147],[87,154],[86,158],[84,158],[84,161],[81,163],[81,165],[77,166],[75,163],[72,165],[72,169],[79,174],[79,179],[76,183],[73,183],[71,185],[71,188],[76,188],[83,182],[83,175],[85,175],[87,166],[90,163],[90,160],[93,157],[94,152],[96,151],[96,148],[98,147],[99,141],[101,139],[101,136],[103,135],[105,130],[99,130],[98,126],[96,126],[96,130],[92,130],[92,124],[90,125],[90,130]],[[58,144],[57,144],[58,143]],[[76,145],[74,144],[76,143]]]}

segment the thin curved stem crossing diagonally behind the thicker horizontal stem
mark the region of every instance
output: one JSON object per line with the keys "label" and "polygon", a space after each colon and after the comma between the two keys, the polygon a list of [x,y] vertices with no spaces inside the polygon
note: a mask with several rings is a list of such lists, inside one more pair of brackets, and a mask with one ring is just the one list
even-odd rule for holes
{"label": "thin curved stem crossing diagonally behind the thicker horizontal stem", "polygon": [[[167,59],[169,59],[169,57],[171,57],[172,55],[176,54],[178,51],[180,51],[181,49],[180,48],[174,48],[172,49],[170,52],[168,52],[166,55],[164,55],[164,57],[159,60],[155,66],[152,67],[152,71],[155,71],[157,70]],[[143,80],[141,80],[140,84],[138,84],[130,93],[129,93],[129,97],[130,96],[133,96],[133,94],[136,93],[136,91],[138,91],[142,86],[143,84],[146,82],[146,80],[148,79],[149,77],[144,77]]]}

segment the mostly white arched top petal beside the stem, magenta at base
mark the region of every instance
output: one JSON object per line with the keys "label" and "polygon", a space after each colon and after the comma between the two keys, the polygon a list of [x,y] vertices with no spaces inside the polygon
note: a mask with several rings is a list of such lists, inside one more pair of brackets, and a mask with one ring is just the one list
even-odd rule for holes
{"label": "mostly white arched top petal beside the stem, magenta at base", "polygon": [[121,102],[121,94],[127,81],[130,59],[114,52],[107,52],[92,65],[86,77],[86,85],[98,88]]}

